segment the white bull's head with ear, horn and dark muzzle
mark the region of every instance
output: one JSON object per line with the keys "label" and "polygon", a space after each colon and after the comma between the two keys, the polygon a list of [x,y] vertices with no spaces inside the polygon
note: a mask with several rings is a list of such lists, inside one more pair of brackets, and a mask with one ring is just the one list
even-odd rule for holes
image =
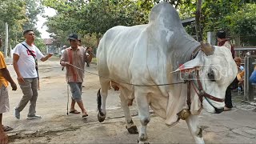
{"label": "white bull's head with ear, horn and dark muzzle", "polygon": [[[225,98],[226,89],[237,74],[237,66],[228,48],[211,46],[209,43],[204,42],[201,42],[201,50],[196,58],[186,62],[175,71],[180,70],[192,73],[194,70],[198,70],[198,78],[202,82],[202,89],[206,94],[216,99]],[[195,81],[195,77],[191,80],[192,82]],[[202,105],[204,109],[210,113],[222,112],[225,103],[214,101],[214,98],[203,98]]]}

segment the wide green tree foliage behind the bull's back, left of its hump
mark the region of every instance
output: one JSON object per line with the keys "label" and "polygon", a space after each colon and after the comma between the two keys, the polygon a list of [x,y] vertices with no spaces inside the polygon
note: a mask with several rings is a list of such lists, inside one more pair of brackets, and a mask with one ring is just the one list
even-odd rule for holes
{"label": "wide green tree foliage behind the bull's back, left of its hump", "polygon": [[58,11],[58,15],[48,18],[46,26],[55,38],[62,38],[61,34],[76,32],[82,37],[86,34],[95,34],[100,38],[111,27],[134,26],[147,22],[153,6],[150,2],[134,0],[94,0],[84,1],[58,1],[45,0],[45,6],[50,6]]}

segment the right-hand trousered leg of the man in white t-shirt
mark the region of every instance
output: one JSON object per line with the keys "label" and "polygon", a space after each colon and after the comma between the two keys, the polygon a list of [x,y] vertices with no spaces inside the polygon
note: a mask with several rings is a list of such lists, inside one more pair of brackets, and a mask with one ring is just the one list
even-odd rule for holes
{"label": "right-hand trousered leg of the man in white t-shirt", "polygon": [[28,117],[33,117],[36,114],[36,104],[37,104],[37,99],[38,99],[38,78],[33,78],[31,82],[31,87],[30,89],[32,90],[32,98],[30,98],[30,109],[28,113]]}

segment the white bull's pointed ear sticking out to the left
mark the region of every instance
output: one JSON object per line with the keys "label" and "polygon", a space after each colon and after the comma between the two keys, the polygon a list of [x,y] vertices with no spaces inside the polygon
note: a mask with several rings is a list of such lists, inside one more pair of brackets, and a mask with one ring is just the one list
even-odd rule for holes
{"label": "white bull's pointed ear sticking out to the left", "polygon": [[198,55],[196,58],[182,64],[181,66],[178,67],[177,70],[171,72],[171,73],[175,73],[181,70],[196,70],[196,69],[200,69],[202,67],[202,51],[198,52]]}

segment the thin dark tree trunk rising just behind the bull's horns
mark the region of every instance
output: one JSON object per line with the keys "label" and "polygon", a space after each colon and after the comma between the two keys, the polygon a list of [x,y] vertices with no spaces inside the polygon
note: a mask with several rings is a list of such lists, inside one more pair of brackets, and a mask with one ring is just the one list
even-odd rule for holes
{"label": "thin dark tree trunk rising just behind the bull's horns", "polygon": [[195,30],[198,37],[198,42],[202,41],[202,30],[201,30],[201,9],[202,9],[202,0],[197,2],[197,11],[195,13]]}

